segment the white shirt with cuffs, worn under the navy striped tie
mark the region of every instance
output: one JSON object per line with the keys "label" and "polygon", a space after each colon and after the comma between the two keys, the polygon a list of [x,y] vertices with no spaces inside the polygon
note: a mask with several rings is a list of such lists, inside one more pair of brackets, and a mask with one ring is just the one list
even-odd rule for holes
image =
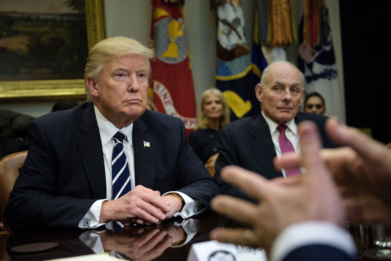
{"label": "white shirt with cuffs, worn under the navy striped tie", "polygon": [[[80,220],[79,228],[82,229],[95,229],[106,223],[99,223],[100,210],[102,207],[102,202],[109,201],[113,199],[113,187],[112,187],[112,175],[111,175],[111,157],[113,154],[113,148],[115,141],[112,139],[115,133],[118,131],[125,134],[125,139],[123,142],[124,152],[129,164],[129,174],[132,189],[135,187],[135,160],[134,160],[134,149],[133,149],[133,123],[129,126],[124,127],[122,129],[118,129],[113,123],[111,123],[108,119],[106,119],[102,113],[99,112],[98,108],[94,104],[95,116],[98,122],[98,128],[100,133],[100,140],[102,142],[102,150],[103,150],[103,160],[104,160],[104,170],[106,174],[106,199],[101,199],[95,201],[86,215]],[[170,191],[162,196],[165,196],[170,193],[178,193],[182,196],[185,201],[185,206],[183,207],[181,212],[177,212],[174,216],[182,216],[182,218],[189,218],[195,214],[202,212],[205,209],[204,204],[199,200],[193,200],[189,196],[184,193],[178,191]],[[120,224],[121,225],[121,224]],[[112,224],[109,222],[106,224],[106,227],[111,229]]]}

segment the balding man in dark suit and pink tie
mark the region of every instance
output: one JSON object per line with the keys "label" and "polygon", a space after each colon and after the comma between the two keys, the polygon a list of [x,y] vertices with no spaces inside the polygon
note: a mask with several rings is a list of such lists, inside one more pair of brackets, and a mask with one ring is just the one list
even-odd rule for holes
{"label": "balding man in dark suit and pink tie", "polygon": [[297,124],[301,121],[315,122],[323,147],[334,147],[325,134],[327,117],[298,112],[303,94],[303,75],[294,65],[281,61],[265,68],[260,83],[255,86],[262,112],[258,116],[234,121],[219,133],[217,150],[220,155],[215,163],[215,178],[222,194],[249,199],[240,189],[220,178],[220,170],[227,165],[244,167],[268,179],[302,173],[299,168],[277,171],[273,166],[275,156],[300,151]]}

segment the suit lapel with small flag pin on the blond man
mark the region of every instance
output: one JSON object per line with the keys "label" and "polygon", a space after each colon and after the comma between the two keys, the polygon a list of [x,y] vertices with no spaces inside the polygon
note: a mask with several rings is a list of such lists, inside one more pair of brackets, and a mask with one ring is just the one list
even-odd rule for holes
{"label": "suit lapel with small flag pin on the blond man", "polygon": [[[148,127],[138,118],[133,124],[133,153],[135,158],[135,185],[153,188],[156,165],[156,137],[147,134]],[[149,147],[144,145],[149,142]]]}

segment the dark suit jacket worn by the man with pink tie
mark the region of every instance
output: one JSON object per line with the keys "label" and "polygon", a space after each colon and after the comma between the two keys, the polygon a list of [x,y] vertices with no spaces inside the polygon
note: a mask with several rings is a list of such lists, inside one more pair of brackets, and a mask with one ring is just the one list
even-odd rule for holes
{"label": "dark suit jacket worn by the man with pink tie", "polygon": [[[322,137],[323,147],[335,147],[325,132],[327,117],[314,113],[299,112],[294,119],[296,123],[305,120],[315,122]],[[222,128],[217,139],[217,151],[220,155],[215,163],[216,173],[214,177],[220,185],[222,194],[249,199],[237,187],[227,184],[220,178],[220,171],[224,166],[241,166],[268,179],[282,176],[282,173],[276,171],[273,165],[276,151],[269,126],[262,113],[258,116],[245,117],[231,122]]]}

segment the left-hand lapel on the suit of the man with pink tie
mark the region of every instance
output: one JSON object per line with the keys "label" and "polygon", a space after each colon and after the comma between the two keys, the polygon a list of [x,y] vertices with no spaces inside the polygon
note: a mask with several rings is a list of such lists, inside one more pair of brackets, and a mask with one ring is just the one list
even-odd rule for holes
{"label": "left-hand lapel on the suit of the man with pink tie", "polygon": [[282,176],[282,173],[276,171],[273,165],[273,159],[276,157],[276,150],[274,149],[269,127],[262,116],[262,113],[254,120],[250,134],[254,138],[251,149],[261,168],[264,170],[264,176],[269,179]]}

